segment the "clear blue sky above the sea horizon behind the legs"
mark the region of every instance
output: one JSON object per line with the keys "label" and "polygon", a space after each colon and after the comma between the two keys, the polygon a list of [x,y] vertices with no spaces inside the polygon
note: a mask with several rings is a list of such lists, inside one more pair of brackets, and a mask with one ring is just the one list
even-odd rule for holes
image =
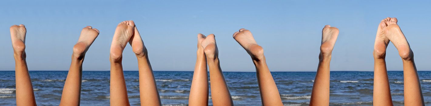
{"label": "clear blue sky above the sea horizon behind the legs", "polygon": [[[417,69],[431,70],[428,0],[43,1],[1,1],[0,70],[15,69],[9,27],[24,24],[29,70],[68,70],[81,29],[91,25],[100,35],[83,70],[107,71],[116,25],[134,20],[156,71],[193,71],[196,36],[202,33],[215,34],[223,71],[253,72],[250,56],[232,38],[240,28],[252,31],[271,71],[315,71],[325,25],[340,29],[331,70],[373,71],[376,30],[388,16],[398,18]],[[131,47],[124,51],[124,70],[137,70]],[[403,70],[392,44],[386,59],[388,70]]]}

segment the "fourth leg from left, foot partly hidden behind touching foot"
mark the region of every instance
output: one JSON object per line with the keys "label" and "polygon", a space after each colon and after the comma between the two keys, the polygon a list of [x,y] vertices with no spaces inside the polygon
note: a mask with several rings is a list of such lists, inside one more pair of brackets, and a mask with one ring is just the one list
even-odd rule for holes
{"label": "fourth leg from left, foot partly hidden behind touching foot", "polygon": [[133,52],[136,54],[139,69],[139,94],[141,95],[141,106],[161,106],[156,80],[153,69],[148,59],[147,48],[144,46],[141,35],[134,27],[134,33],[129,41]]}

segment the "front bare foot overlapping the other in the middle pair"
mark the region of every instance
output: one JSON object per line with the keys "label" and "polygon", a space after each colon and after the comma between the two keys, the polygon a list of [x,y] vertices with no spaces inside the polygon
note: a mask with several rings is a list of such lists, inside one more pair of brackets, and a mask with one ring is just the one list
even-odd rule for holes
{"label": "front bare foot overlapping the other in the middle pair", "polygon": [[219,56],[217,44],[215,43],[215,35],[209,34],[206,38],[203,38],[201,46],[207,58],[215,59]]}

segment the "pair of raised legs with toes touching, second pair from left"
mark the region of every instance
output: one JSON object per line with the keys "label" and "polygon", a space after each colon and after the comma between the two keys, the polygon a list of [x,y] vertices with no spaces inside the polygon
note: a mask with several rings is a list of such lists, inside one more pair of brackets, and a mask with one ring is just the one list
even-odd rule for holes
{"label": "pair of raised legs with toes touching, second pair from left", "polygon": [[111,106],[130,106],[122,69],[122,53],[128,42],[138,61],[141,106],[160,106],[159,93],[147,49],[133,21],[119,23],[112,38],[109,56],[111,62],[110,104]]}

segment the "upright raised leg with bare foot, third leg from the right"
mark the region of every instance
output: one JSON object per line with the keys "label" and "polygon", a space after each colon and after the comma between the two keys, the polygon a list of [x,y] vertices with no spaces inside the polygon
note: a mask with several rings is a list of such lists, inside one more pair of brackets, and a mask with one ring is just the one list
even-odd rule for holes
{"label": "upright raised leg with bare foot, third leg from the right", "polygon": [[329,63],[338,37],[338,28],[325,25],[322,30],[322,45],[320,46],[319,65],[311,92],[310,106],[329,105]]}

